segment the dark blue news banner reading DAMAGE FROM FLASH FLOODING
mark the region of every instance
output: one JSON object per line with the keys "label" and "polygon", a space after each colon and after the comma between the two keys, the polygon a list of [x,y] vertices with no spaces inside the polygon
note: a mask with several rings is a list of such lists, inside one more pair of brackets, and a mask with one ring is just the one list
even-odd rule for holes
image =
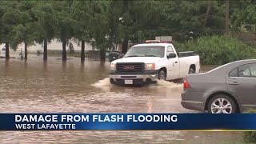
{"label": "dark blue news banner reading DAMAGE FROM FLASH FLOODING", "polygon": [[256,114],[0,114],[0,130],[256,130]]}

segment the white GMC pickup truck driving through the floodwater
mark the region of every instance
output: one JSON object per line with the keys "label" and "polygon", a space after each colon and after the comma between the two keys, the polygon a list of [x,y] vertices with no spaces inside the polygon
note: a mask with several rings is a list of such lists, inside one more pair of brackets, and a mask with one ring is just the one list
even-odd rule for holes
{"label": "white GMC pickup truck driving through the floodwater", "polygon": [[171,43],[132,46],[123,58],[110,64],[110,83],[143,85],[157,79],[167,81],[198,73],[200,60],[193,51],[177,53]]}

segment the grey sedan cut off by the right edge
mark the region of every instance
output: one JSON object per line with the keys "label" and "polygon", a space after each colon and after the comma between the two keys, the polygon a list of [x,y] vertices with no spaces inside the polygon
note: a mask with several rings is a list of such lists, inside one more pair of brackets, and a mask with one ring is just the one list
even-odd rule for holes
{"label": "grey sedan cut off by the right edge", "polygon": [[202,74],[188,74],[182,106],[211,114],[256,108],[256,59],[227,63]]}

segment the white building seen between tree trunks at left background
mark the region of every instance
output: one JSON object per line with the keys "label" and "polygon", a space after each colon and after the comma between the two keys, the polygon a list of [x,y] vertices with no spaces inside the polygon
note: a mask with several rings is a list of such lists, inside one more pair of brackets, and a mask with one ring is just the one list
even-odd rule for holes
{"label": "white building seen between tree trunks at left background", "polygon": [[[81,44],[80,46],[78,46],[78,44],[76,42],[71,42],[74,50],[75,51],[80,51],[81,50]],[[2,43],[0,45],[0,54],[2,55],[2,53],[4,53],[5,51],[2,50],[5,47],[5,44]],[[18,45],[18,49],[16,50],[17,52],[20,52],[21,50],[24,51],[24,43],[21,43]],[[38,44],[36,43],[33,46],[28,46],[27,47],[28,53],[38,53],[38,52],[43,52],[43,45],[42,44]],[[57,39],[52,40],[52,42],[48,42],[47,45],[47,50],[49,51],[58,51],[58,50],[62,50],[62,42],[58,42]],[[66,46],[66,50],[69,50],[69,46]],[[85,50],[94,50],[93,46],[90,45],[90,43],[86,43],[85,44]],[[15,53],[14,50],[10,49],[10,54],[11,53]]]}

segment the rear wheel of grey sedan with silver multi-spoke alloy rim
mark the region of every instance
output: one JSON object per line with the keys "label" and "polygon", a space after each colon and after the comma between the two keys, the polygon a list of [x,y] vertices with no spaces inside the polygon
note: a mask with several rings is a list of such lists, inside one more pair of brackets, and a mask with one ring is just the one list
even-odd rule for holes
{"label": "rear wheel of grey sedan with silver multi-spoke alloy rim", "polygon": [[210,114],[233,114],[235,111],[234,100],[226,95],[216,95],[210,98],[208,102],[208,112]]}

